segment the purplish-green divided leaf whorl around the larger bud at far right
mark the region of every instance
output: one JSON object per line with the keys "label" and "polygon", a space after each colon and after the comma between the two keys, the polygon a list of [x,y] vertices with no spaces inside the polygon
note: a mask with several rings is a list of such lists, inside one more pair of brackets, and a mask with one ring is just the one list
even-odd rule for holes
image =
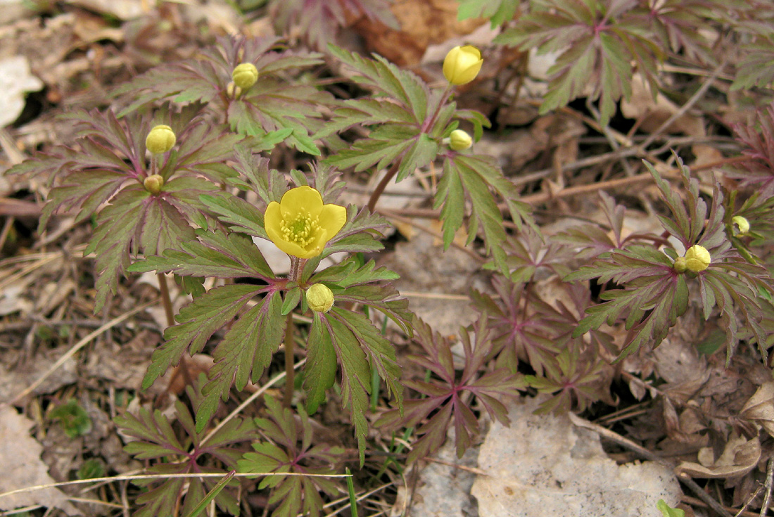
{"label": "purplish-green divided leaf whorl around the larger bud at far right", "polygon": [[[721,191],[715,187],[707,214],[697,180],[691,179],[682,160],[675,158],[687,190],[685,197],[680,197],[655,168],[645,163],[672,212],[672,217],[659,216],[659,220],[684,249],[700,245],[711,256],[707,269],[690,272],[690,276],[697,279],[704,318],[711,316],[715,306],[721,310],[728,361],[738,343],[737,312],[749,330],[747,338],[758,343],[765,357],[767,334],[772,330],[772,306],[767,300],[771,300],[774,285],[765,269],[745,261],[731,248],[723,222]],[[661,252],[652,245],[628,245],[603,253],[591,265],[566,276],[570,281],[597,279],[603,284],[612,281],[621,286],[602,293],[603,303],[587,308],[587,317],[580,321],[573,336],[623,320],[628,334],[616,361],[642,346],[658,346],[688,306],[689,281],[685,269],[676,270],[677,258],[673,248]]]}

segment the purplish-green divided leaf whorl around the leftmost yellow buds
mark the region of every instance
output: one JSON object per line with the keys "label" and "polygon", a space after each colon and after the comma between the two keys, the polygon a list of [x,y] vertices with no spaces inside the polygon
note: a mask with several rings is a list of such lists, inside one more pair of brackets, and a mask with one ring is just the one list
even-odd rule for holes
{"label": "purplish-green divided leaf whorl around the leftmost yellow buds", "polygon": [[[170,122],[178,144],[166,153],[156,171],[163,187],[149,192],[144,180],[154,173],[146,160],[145,139],[156,125],[149,117],[118,120],[112,111],[77,112],[67,118],[78,124],[81,152],[61,147],[49,156],[37,156],[11,173],[50,173],[57,184],[50,191],[40,219],[42,231],[50,217],[77,211],[77,221],[96,215],[85,254],[96,254],[97,296],[95,312],[112,293],[125,272],[131,255],[156,255],[194,238],[193,221],[204,217],[207,207],[199,200],[233,175],[221,162],[231,155],[238,135],[209,131],[197,108],[183,111]],[[156,115],[170,116],[166,109]]]}

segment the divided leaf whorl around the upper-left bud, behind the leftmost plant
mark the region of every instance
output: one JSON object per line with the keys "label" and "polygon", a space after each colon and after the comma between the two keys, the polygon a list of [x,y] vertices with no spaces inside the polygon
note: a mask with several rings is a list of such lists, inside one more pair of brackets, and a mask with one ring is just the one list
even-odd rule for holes
{"label": "divided leaf whorl around the upper-left bud, behind the leftmost plant", "polygon": [[[289,129],[289,146],[319,155],[310,133],[321,126],[320,105],[330,104],[330,95],[283,74],[322,63],[319,53],[286,50],[279,38],[219,38],[217,46],[200,57],[164,64],[118,87],[115,94],[126,98],[127,115],[159,101],[207,104],[217,118],[240,135],[262,136]],[[233,98],[228,95],[231,74],[240,63],[252,63],[258,82]]]}

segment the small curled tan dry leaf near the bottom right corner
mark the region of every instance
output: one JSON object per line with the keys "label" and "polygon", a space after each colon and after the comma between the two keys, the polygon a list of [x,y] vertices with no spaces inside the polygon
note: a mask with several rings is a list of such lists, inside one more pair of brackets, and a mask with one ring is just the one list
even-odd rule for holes
{"label": "small curled tan dry leaf near the bottom right corner", "polygon": [[677,466],[676,473],[688,474],[691,478],[738,478],[752,471],[761,457],[761,443],[758,437],[731,437],[723,454],[714,460],[712,447],[699,450],[699,463],[684,461]]}

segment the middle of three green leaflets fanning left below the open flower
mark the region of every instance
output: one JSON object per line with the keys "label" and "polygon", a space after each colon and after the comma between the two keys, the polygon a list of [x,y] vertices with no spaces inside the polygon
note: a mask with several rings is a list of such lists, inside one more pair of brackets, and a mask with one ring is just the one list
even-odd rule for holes
{"label": "middle of three green leaflets fanning left below the open flower", "polygon": [[180,362],[186,349],[191,355],[201,351],[216,330],[233,320],[245,303],[263,290],[244,284],[216,287],[183,307],[175,317],[180,324],[164,331],[165,343],[153,352],[142,389],[148,389],[167,368]]}

